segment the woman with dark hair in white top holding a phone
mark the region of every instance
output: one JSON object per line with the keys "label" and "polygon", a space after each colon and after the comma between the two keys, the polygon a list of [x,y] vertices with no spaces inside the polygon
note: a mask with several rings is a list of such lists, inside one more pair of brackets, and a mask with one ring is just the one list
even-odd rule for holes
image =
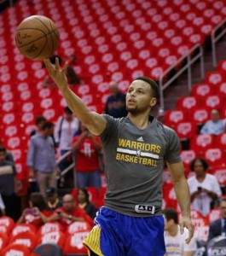
{"label": "woman with dark hair in white top holding a phone", "polygon": [[217,178],[212,174],[206,173],[208,169],[206,160],[196,158],[191,162],[190,169],[195,175],[188,178],[188,186],[191,194],[191,207],[194,210],[206,215],[211,211],[212,201],[222,195]]}

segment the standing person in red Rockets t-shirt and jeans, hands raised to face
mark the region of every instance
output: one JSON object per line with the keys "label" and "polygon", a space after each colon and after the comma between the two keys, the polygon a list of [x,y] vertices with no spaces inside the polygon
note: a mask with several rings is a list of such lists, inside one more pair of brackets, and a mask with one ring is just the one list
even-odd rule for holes
{"label": "standing person in red Rockets t-shirt and jeans, hands raised to face", "polygon": [[81,123],[81,134],[72,140],[72,149],[75,151],[76,177],[78,188],[95,187],[101,188],[101,171],[99,153],[101,140],[93,136]]}

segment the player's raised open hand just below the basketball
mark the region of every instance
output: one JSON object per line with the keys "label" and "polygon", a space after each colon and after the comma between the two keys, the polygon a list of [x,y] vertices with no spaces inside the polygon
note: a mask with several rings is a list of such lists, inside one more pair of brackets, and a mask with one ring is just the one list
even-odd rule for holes
{"label": "player's raised open hand just below the basketball", "polygon": [[61,91],[67,90],[67,62],[61,69],[59,59],[55,58],[55,66],[51,64],[49,59],[43,60],[45,67],[49,72],[49,76],[54,80],[55,84]]}

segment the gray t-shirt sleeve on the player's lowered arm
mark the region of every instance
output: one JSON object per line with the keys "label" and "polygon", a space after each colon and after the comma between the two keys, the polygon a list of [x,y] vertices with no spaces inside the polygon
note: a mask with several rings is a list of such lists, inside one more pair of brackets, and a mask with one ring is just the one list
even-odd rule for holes
{"label": "gray t-shirt sleeve on the player's lowered arm", "polygon": [[179,163],[182,161],[180,157],[180,140],[177,133],[172,129],[169,130],[168,148],[166,149],[165,160],[168,163]]}

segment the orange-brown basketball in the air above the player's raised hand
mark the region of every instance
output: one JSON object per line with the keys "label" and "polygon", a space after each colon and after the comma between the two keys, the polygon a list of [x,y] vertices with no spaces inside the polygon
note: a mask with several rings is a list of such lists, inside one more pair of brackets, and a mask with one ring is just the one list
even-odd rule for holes
{"label": "orange-brown basketball in the air above the player's raised hand", "polygon": [[53,55],[60,42],[60,33],[53,20],[33,15],[20,22],[15,32],[15,44],[21,54],[32,60]]}

